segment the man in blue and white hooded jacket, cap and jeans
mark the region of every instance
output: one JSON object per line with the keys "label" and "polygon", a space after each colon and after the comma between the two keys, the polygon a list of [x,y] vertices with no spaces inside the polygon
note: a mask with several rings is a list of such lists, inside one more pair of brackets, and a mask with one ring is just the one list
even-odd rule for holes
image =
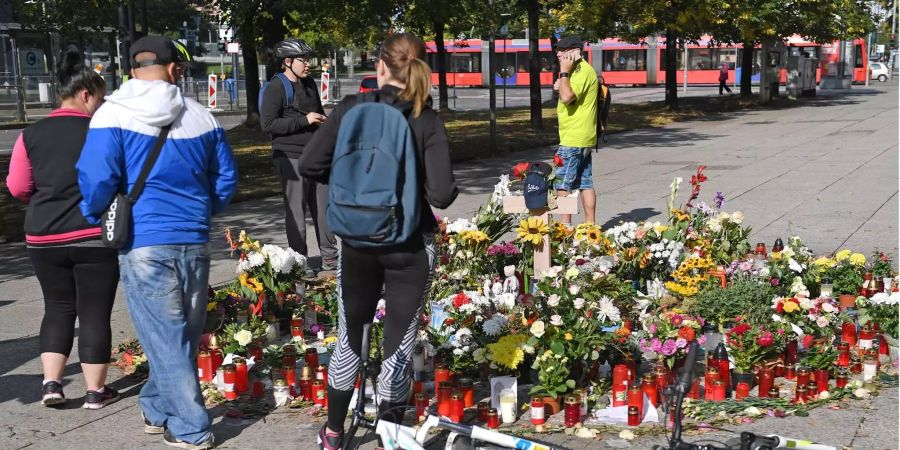
{"label": "man in blue and white hooded jacket, cap and jeans", "polygon": [[160,129],[172,124],[132,209],[133,242],[119,264],[152,367],[139,402],[145,431],[175,447],[211,448],[196,355],[208,301],[210,216],[228,205],[237,169],[222,127],[174,85],[184,59],[172,41],[142,38],[131,58],[134,79],[91,120],[76,166],[81,211],[98,223],[116,193],[130,191]]}

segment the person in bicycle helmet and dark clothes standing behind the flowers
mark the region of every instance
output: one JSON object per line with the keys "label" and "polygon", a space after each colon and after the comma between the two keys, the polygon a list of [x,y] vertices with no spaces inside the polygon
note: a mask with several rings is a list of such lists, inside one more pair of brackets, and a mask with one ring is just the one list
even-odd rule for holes
{"label": "person in bicycle helmet and dark clothes standing behind the flowers", "polygon": [[[306,210],[312,217],[322,257],[321,270],[337,268],[337,241],[325,223],[328,186],[305,178],[298,172],[298,161],[313,133],[325,123],[325,110],[319,99],[319,88],[309,76],[312,52],[306,42],[287,39],[275,46],[275,57],[284,72],[275,75],[263,92],[260,123],[272,137],[272,162],[281,181],[284,196],[284,227],[288,246],[309,256],[306,245]],[[292,98],[287,98],[291,87]]]}

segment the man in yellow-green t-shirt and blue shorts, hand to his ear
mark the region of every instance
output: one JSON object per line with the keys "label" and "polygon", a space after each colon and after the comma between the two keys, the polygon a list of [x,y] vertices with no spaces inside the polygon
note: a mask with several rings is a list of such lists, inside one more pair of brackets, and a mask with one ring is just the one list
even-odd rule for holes
{"label": "man in yellow-green t-shirt and blue shorts, hand to his ear", "polygon": [[[597,209],[597,195],[591,174],[591,150],[597,145],[597,72],[584,58],[584,41],[569,36],[556,44],[559,58],[559,79],[553,89],[559,91],[556,114],[559,117],[559,148],[556,154],[562,166],[556,169],[554,188],[560,196],[575,189],[581,191],[584,221],[593,223]],[[571,223],[570,215],[562,221]]]}

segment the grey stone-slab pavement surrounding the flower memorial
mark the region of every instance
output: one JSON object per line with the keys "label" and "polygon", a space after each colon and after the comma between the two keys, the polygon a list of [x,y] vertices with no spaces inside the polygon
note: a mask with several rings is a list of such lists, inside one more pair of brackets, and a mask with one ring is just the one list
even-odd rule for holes
{"label": "grey stone-slab pavement surrounding the flower memorial", "polygon": [[[615,118],[611,118],[615,120]],[[709,181],[701,198],[716,191],[727,210],[741,210],[753,227],[752,242],[798,234],[816,252],[852,248],[866,255],[878,248],[898,255],[898,88],[896,84],[849,92],[820,91],[789,107],[760,109],[681,122],[663,128],[610,136],[594,155],[598,222],[664,220],[669,183],[690,178],[698,164]],[[525,150],[495,159],[459,164],[462,193],[440,215],[470,216],[490,193],[496,177],[520,160],[549,159],[552,148]],[[687,183],[679,200],[686,198]],[[210,280],[234,276],[221,231],[245,228],[254,237],[286,243],[280,198],[233,205],[216,219]],[[310,227],[310,236],[313,236]],[[310,241],[310,248],[315,243]],[[315,259],[315,258],[314,258]],[[317,261],[314,261],[317,264]],[[113,343],[134,336],[121,290],[113,318]],[[0,448],[161,448],[158,437],[141,430],[136,408],[140,385],[110,371],[123,399],[99,411],[81,409],[84,384],[77,350],[66,370],[70,402],[61,410],[39,405],[38,329],[41,292],[21,243],[0,246]],[[77,346],[76,346],[77,349]],[[742,427],[809,437],[838,447],[898,448],[897,389],[847,408],[820,408],[806,418],[763,419]],[[212,410],[213,431],[222,448],[315,448],[321,419],[277,411],[255,420],[223,419]],[[717,436],[717,434],[713,434]],[[615,436],[584,440],[565,435],[547,439],[571,449],[649,448],[661,438],[630,444]],[[368,448],[371,448],[368,447]]]}

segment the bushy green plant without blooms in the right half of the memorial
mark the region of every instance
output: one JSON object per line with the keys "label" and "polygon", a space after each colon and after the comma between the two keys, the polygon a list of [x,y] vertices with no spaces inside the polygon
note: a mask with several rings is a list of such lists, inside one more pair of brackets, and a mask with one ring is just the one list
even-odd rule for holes
{"label": "bushy green plant without blooms in the right half of the memorial", "polygon": [[688,310],[707,321],[722,325],[741,316],[759,323],[770,315],[772,287],[750,279],[736,279],[726,288],[710,281],[688,303]]}

